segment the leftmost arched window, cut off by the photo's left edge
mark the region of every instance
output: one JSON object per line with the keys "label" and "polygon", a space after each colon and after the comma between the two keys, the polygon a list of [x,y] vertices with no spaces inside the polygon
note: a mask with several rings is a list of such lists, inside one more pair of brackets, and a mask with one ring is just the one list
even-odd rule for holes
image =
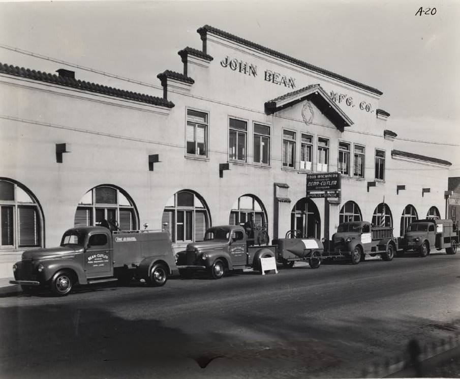
{"label": "leftmost arched window, cut off by the photo's left edge", "polygon": [[42,246],[42,225],[35,196],[21,184],[0,180],[0,248]]}

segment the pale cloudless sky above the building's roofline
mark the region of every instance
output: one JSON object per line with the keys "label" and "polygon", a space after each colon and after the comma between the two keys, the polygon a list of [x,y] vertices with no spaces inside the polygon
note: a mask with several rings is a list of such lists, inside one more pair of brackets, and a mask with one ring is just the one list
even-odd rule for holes
{"label": "pale cloudless sky above the building's roofline", "polygon": [[[425,4],[421,4],[425,3]],[[429,4],[428,4],[429,3]],[[416,16],[419,7],[435,15]],[[460,1],[312,0],[0,3],[0,44],[160,86],[209,24],[383,92],[395,148],[452,162],[460,176]],[[162,96],[0,47],[0,62]]]}

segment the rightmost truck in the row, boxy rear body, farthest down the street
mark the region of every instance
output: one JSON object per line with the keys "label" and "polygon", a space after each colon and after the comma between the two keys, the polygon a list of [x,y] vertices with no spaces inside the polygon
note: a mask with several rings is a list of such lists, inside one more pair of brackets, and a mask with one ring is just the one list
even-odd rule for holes
{"label": "rightmost truck in the row, boxy rear body, farthest down the street", "polygon": [[447,254],[455,254],[458,237],[458,224],[452,220],[415,220],[409,225],[401,240],[401,255],[405,251],[413,250],[424,257],[430,254],[432,248],[445,248]]}

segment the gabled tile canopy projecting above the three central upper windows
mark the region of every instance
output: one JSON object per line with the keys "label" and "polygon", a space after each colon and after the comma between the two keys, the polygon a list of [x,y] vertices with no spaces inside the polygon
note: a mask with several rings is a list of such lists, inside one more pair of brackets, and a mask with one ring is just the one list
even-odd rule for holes
{"label": "gabled tile canopy projecting above the three central upper windows", "polygon": [[265,111],[268,114],[272,114],[305,99],[315,104],[337,129],[343,131],[344,127],[353,125],[353,121],[330,99],[326,91],[319,84],[308,85],[300,90],[289,92],[286,95],[267,101],[265,103]]}

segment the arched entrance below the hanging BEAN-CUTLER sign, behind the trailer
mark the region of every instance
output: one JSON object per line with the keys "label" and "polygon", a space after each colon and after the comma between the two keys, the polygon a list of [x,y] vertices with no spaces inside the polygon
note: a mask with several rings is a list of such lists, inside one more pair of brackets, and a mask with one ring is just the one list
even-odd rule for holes
{"label": "arched entrance below the hanging BEAN-CUTLER sign, behind the trailer", "polygon": [[291,211],[291,230],[298,230],[303,238],[320,238],[321,219],[315,203],[306,197],[296,202]]}

